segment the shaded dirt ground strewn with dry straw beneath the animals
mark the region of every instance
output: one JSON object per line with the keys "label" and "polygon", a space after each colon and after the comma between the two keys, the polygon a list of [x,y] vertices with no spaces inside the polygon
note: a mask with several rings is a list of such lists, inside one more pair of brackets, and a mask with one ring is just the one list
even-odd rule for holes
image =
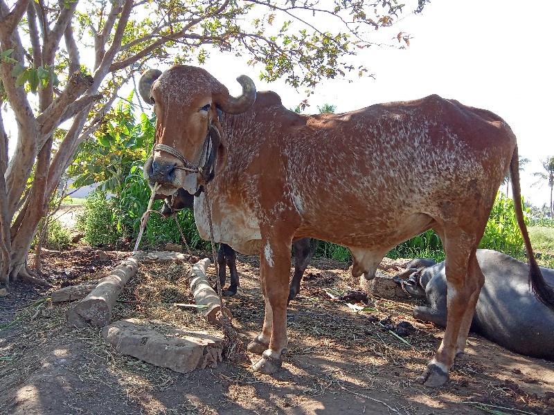
{"label": "shaded dirt ground strewn with dry straw beneath the animals", "polygon": [[[93,281],[128,252],[75,248],[42,259],[54,288]],[[195,255],[205,257],[202,252]],[[31,259],[32,260],[32,259]],[[395,273],[405,261],[388,260]],[[98,328],[69,329],[71,304],[48,301],[52,289],[15,284],[0,298],[1,414],[554,414],[554,362],[520,356],[477,335],[445,387],[414,380],[443,331],[411,317],[415,302],[369,297],[365,311],[333,301],[355,288],[348,264],[314,260],[300,295],[289,306],[289,353],[273,376],[257,374],[257,356],[177,374],[120,356]],[[190,264],[141,266],[114,309],[114,320],[163,320],[219,333],[190,308]],[[262,324],[256,257],[238,256],[240,291],[226,298],[247,344]],[[211,268],[211,273],[214,273]],[[409,322],[400,340],[381,322]]]}

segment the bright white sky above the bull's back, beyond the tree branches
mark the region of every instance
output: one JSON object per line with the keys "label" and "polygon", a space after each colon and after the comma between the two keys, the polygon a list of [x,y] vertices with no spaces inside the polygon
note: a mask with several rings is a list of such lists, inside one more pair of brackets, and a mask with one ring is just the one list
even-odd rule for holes
{"label": "bright white sky above the bull's back, beyond the tree branches", "polygon": [[[531,160],[521,174],[522,193],[534,205],[549,203],[548,186],[531,184],[537,180],[532,173],[543,171],[540,160],[554,156],[554,1],[530,4],[532,7],[515,0],[433,0],[422,14],[410,15],[388,31],[378,31],[385,39],[400,30],[410,33],[409,48],[360,50],[359,60],[353,64],[366,66],[375,79],[329,80],[310,98],[312,106],[306,112],[317,112],[316,106],[324,103],[344,112],[431,93],[489,109],[510,124],[518,138],[519,154]],[[214,53],[204,67],[235,95],[240,93],[235,78],[244,73],[252,77],[258,90],[277,91],[286,107],[296,107],[305,98],[304,89],[297,93],[283,82],[260,82],[259,71],[247,66],[247,59]],[[17,136],[14,130],[11,133]]]}

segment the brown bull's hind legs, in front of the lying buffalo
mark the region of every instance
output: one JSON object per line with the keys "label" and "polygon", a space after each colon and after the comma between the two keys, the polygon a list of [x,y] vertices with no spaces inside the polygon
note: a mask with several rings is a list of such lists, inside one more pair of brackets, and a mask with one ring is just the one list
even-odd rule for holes
{"label": "brown bull's hind legs, in front of the lying buffalo", "polygon": [[[479,284],[473,271],[476,251],[476,236],[467,232],[445,232],[445,272],[447,279],[448,317],[443,342],[427,369],[418,377],[425,386],[437,387],[448,381],[448,372],[454,365],[458,340],[467,337],[466,316],[473,315]],[[479,286],[481,288],[481,286]],[[475,294],[476,293],[476,294]],[[471,324],[471,319],[470,319]],[[467,326],[469,329],[469,326]],[[464,334],[465,332],[465,334]]]}

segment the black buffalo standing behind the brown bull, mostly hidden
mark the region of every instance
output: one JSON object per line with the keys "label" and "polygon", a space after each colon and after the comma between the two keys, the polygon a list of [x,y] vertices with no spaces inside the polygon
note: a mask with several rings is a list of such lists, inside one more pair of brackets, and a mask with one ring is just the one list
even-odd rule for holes
{"label": "black buffalo standing behind the brown bull, mostly hidden", "polygon": [[[163,199],[166,196],[158,195],[157,199]],[[179,189],[175,196],[166,198],[166,201],[161,209],[163,216],[170,216],[173,212],[181,209],[194,208],[194,196],[184,189]],[[312,259],[318,241],[309,238],[299,239],[292,244],[294,249],[294,275],[289,286],[289,301],[294,299],[300,293],[300,282],[307,264]],[[217,250],[217,266],[219,267],[220,283],[223,287],[226,279],[226,266],[229,267],[229,276],[231,277],[231,285],[223,291],[224,295],[235,295],[238,286],[240,285],[237,273],[237,255],[231,246],[226,243],[220,243],[220,248]]]}

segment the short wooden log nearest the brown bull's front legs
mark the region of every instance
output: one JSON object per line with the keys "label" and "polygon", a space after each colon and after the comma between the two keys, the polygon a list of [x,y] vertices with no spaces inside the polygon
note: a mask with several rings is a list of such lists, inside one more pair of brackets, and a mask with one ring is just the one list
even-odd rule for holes
{"label": "short wooden log nearest the brown bull's front legs", "polygon": [[229,320],[233,318],[231,311],[228,308],[221,308],[220,297],[211,287],[208,277],[206,277],[206,270],[210,265],[210,259],[204,258],[194,264],[193,269],[190,270],[190,291],[195,297],[195,304],[206,306],[205,308],[197,308],[197,312],[206,317],[208,322],[222,325],[219,319],[217,319],[217,313],[222,311],[225,313]]}

